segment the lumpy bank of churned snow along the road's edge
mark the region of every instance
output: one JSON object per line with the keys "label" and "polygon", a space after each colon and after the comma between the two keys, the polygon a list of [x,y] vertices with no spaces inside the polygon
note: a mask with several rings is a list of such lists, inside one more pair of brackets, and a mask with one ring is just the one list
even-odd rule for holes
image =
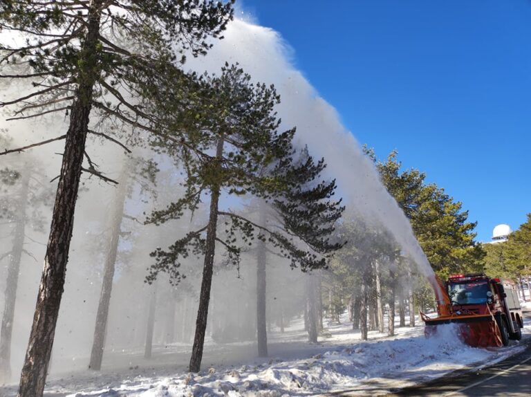
{"label": "lumpy bank of churned snow along the road's edge", "polygon": [[[525,338],[529,337],[529,326]],[[420,335],[422,327],[418,327],[415,335],[343,344],[304,359],[277,358],[263,364],[212,367],[199,374],[173,377],[137,376],[114,385],[111,381],[100,389],[78,388],[68,397],[310,396],[348,389],[373,378],[420,382],[467,364],[478,366],[501,360],[522,347],[513,342],[512,347],[503,349],[474,349],[456,340],[453,325],[439,328],[438,335],[429,339]],[[104,381],[104,375],[100,381]],[[68,387],[54,389],[72,391]]]}

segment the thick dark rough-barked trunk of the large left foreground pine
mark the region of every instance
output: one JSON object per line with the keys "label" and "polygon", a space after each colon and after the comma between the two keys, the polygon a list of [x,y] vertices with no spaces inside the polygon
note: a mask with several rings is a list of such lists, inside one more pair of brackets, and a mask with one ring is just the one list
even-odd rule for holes
{"label": "thick dark rough-barked trunk of the large left foreground pine", "polygon": [[44,269],[35,305],[35,316],[22,367],[19,397],[41,397],[53,348],[55,326],[64,290],[68,251],[72,239],[75,202],[80,185],[88,119],[97,75],[97,42],[103,0],[88,3],[86,37],[80,51],[79,86],[66,132],[59,184],[53,207],[52,224],[44,257]]}

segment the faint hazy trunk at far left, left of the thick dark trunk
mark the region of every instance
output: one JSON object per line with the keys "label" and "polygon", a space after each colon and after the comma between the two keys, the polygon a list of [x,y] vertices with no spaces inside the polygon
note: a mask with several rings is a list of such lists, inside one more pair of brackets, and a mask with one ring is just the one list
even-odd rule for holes
{"label": "faint hazy trunk at far left, left of the thick dark trunk", "polygon": [[15,303],[17,301],[17,285],[19,283],[20,261],[24,251],[26,230],[26,203],[30,185],[30,170],[24,169],[21,178],[19,197],[17,200],[17,221],[15,235],[10,254],[8,277],[6,277],[6,294],[4,295],[2,326],[0,330],[0,383],[11,378],[11,336],[15,320]]}

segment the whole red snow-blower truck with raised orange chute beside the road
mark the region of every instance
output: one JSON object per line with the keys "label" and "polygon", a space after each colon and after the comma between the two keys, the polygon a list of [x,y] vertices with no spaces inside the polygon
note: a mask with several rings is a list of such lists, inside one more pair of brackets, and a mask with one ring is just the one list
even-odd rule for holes
{"label": "whole red snow-blower truck with raised orange chute beside the road", "polygon": [[436,292],[437,317],[420,312],[429,337],[440,324],[458,324],[460,338],[472,347],[507,346],[520,340],[522,311],[516,285],[507,279],[482,274],[452,275],[443,284],[430,280]]}

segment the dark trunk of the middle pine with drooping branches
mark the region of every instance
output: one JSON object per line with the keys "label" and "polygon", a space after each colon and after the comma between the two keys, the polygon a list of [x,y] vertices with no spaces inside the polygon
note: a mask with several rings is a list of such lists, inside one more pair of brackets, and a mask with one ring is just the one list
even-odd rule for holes
{"label": "dark trunk of the middle pine with drooping branches", "polygon": [[[223,138],[218,139],[216,160],[221,161],[223,154]],[[218,165],[216,165],[218,166]],[[207,240],[205,242],[205,261],[203,263],[203,280],[199,295],[199,308],[197,311],[196,333],[194,347],[190,358],[190,372],[199,372],[203,360],[203,345],[205,344],[205,331],[207,329],[208,305],[210,302],[210,289],[212,288],[212,274],[214,273],[214,253],[216,251],[216,228],[218,225],[219,186],[211,186],[210,214],[207,226]]]}

